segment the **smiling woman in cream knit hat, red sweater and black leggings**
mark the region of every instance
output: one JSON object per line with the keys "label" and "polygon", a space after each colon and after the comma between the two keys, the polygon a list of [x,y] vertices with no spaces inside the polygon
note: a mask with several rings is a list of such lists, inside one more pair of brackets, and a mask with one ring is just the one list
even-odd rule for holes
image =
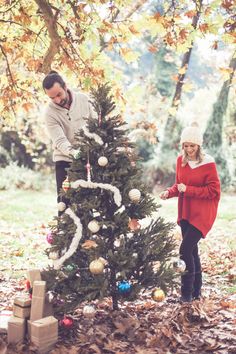
{"label": "smiling woman in cream knit hat, red sweater and black leggings", "polygon": [[197,126],[181,134],[183,153],[177,158],[176,182],[160,194],[161,199],[178,197],[178,224],[182,231],[180,258],[186,264],[181,276],[181,301],[201,296],[202,272],[198,242],[205,238],[217,214],[220,181],[214,159],[202,152],[202,134]]}

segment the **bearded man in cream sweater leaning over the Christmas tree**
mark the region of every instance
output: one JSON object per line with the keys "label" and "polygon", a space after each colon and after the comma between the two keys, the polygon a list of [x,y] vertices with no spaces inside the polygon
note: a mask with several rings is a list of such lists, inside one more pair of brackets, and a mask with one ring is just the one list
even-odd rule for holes
{"label": "bearded man in cream sweater leaning over the Christmas tree", "polygon": [[46,127],[53,143],[53,161],[56,169],[57,201],[67,176],[72,156],[75,133],[85,125],[84,118],[95,116],[88,97],[68,89],[63,78],[51,71],[43,80],[43,89],[50,102],[45,112]]}

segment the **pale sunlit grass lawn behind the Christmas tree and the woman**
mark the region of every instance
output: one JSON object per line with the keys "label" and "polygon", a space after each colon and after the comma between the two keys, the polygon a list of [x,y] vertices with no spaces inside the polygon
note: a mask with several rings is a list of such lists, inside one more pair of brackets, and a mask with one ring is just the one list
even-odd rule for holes
{"label": "pale sunlit grass lawn behind the Christmas tree and the woman", "polygon": [[[177,198],[162,201],[158,215],[175,222]],[[56,191],[0,191],[0,271],[4,276],[19,277],[26,269],[45,267],[50,261],[45,255],[47,225],[57,214]],[[220,247],[227,252],[236,248],[236,195],[223,194],[215,225],[201,242],[200,248]],[[228,288],[233,292],[235,287]]]}

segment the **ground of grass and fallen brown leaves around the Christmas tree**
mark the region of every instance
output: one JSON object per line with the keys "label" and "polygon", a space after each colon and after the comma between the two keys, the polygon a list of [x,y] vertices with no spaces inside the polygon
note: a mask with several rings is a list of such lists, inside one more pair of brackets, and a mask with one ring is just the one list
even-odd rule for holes
{"label": "ground of grass and fallen brown leaves around the Christmas tree", "polygon": [[[204,270],[201,301],[181,305],[175,289],[161,303],[145,293],[136,302],[124,303],[120,311],[114,312],[106,299],[94,303],[96,315],[92,319],[84,317],[81,306],[72,314],[73,327],[70,330],[60,327],[59,341],[51,353],[236,353],[235,201],[235,196],[224,196],[217,222],[201,244]],[[26,198],[26,205],[28,202]],[[51,207],[52,203],[48,213],[45,208],[41,213],[37,205],[38,215],[30,217],[25,213],[24,220],[17,221],[16,213],[12,223],[7,215],[1,218],[0,311],[11,310],[14,297],[26,291],[26,270],[42,268],[48,262],[44,255],[45,225],[52,216]],[[175,207],[173,201],[168,201],[160,213],[173,221]],[[34,220],[30,227],[27,218]],[[175,235],[180,239],[178,228]],[[6,334],[0,334],[0,353],[35,352],[27,341],[7,347]]]}

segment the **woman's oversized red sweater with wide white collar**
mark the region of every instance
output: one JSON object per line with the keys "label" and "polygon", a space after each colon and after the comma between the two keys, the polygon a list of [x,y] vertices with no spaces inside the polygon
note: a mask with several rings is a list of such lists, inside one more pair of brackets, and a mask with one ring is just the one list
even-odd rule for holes
{"label": "woman's oversized red sweater with wide white collar", "polygon": [[[169,197],[178,197],[178,219],[188,220],[206,237],[217,214],[220,199],[220,181],[214,159],[206,155],[201,164],[192,167],[187,163],[182,167],[182,156],[177,158],[176,183],[168,188]],[[180,193],[177,184],[186,185],[186,191]]]}

